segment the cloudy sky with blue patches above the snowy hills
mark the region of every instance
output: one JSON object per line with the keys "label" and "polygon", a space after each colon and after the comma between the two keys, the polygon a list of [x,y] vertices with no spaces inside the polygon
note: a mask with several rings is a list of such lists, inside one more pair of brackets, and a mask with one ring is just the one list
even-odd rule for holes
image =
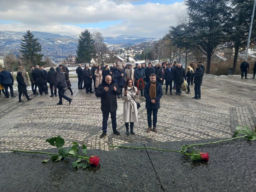
{"label": "cloudy sky with blue patches above the snowy hills", "polygon": [[41,31],[78,35],[84,29],[103,36],[161,38],[176,26],[182,0],[0,0],[1,31]]}

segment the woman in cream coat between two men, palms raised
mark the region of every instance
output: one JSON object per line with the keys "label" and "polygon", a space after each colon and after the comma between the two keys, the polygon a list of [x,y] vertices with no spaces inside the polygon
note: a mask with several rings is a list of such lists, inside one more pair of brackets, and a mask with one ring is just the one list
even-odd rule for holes
{"label": "woman in cream coat between two men, palms raised", "polygon": [[129,122],[131,134],[134,135],[133,126],[134,122],[138,122],[137,103],[134,99],[139,98],[139,91],[133,85],[131,78],[126,80],[125,86],[122,90],[123,102],[123,122],[125,122],[126,134],[129,135]]}

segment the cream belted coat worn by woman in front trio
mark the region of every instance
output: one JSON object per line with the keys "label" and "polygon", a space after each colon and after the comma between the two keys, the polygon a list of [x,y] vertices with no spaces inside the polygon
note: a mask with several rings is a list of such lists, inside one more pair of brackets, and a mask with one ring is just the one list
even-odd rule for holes
{"label": "cream belted coat worn by woman in front trio", "polygon": [[[125,88],[122,90],[122,99],[124,100],[123,102],[123,122],[138,122],[138,111],[137,111],[137,104],[134,101],[139,98],[139,94],[136,95],[137,88],[135,88],[134,91],[127,91],[127,96],[125,97]],[[131,89],[132,90],[132,89]],[[133,98],[132,98],[133,96]]]}

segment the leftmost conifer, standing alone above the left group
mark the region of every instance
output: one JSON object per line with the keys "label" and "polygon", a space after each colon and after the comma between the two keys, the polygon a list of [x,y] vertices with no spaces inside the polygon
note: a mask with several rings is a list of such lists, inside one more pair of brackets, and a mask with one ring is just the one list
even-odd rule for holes
{"label": "leftmost conifer, standing alone above the left group", "polygon": [[41,45],[38,42],[38,38],[34,38],[33,33],[30,30],[23,35],[24,39],[21,39],[21,55],[20,57],[27,65],[43,65],[42,62],[43,54],[41,54]]}

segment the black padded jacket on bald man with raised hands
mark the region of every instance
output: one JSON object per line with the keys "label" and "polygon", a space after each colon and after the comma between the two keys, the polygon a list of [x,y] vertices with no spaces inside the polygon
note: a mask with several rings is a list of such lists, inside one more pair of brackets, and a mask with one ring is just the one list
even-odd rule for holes
{"label": "black padded jacket on bald man with raised hands", "polygon": [[[114,86],[117,88],[114,91]],[[106,92],[105,87],[109,87],[109,90]],[[118,85],[111,81],[110,84],[107,84],[105,78],[102,79],[102,83],[99,84],[95,92],[96,97],[101,98],[101,111],[104,112],[113,112],[117,110],[117,95],[121,95],[121,90],[119,90]]]}

